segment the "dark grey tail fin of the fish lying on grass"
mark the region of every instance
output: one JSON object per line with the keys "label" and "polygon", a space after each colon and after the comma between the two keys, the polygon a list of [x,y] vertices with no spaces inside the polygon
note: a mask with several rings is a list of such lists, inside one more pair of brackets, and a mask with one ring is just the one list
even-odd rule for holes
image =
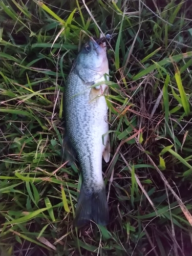
{"label": "dark grey tail fin of the fish lying on grass", "polygon": [[109,222],[109,208],[106,200],[105,187],[93,191],[81,185],[80,195],[75,212],[74,225],[82,226],[95,221],[99,225],[107,225]]}

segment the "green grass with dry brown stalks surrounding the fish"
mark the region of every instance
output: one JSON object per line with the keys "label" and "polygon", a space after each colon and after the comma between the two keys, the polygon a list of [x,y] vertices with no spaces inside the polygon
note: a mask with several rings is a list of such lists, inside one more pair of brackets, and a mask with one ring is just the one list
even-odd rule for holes
{"label": "green grass with dry brown stalks surrounding the fish", "polygon": [[[192,4],[0,0],[1,255],[190,256]],[[72,226],[62,93],[86,33],[108,49],[110,224]],[[85,33],[86,32],[86,33]]]}

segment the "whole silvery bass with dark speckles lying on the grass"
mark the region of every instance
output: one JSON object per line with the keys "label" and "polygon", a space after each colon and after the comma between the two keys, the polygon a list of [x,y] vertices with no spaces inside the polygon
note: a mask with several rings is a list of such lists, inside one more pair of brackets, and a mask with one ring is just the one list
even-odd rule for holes
{"label": "whole silvery bass with dark speckles lying on the grass", "polygon": [[[103,38],[90,38],[79,51],[63,95],[63,157],[78,160],[82,173],[73,224],[109,224],[109,206],[102,177],[102,157],[110,160],[108,105],[109,62]],[[97,85],[98,82],[101,84]],[[103,83],[102,83],[103,82]],[[96,85],[95,85],[96,84]],[[95,86],[94,86],[95,85]]]}

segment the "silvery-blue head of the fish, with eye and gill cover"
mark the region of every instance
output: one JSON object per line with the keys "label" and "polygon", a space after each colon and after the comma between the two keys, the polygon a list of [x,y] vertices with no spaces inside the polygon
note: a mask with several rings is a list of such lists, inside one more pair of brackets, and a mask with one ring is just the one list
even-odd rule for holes
{"label": "silvery-blue head of the fish, with eye and gill cover", "polygon": [[105,42],[98,44],[93,38],[85,44],[76,60],[76,71],[85,82],[100,79],[109,74]]}

